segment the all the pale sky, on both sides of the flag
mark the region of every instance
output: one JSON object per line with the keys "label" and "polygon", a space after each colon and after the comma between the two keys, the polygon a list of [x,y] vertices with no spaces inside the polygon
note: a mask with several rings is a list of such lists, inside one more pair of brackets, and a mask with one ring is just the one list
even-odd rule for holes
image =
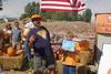
{"label": "all the pale sky, on both sides of the flag", "polygon": [[[4,0],[3,0],[4,1]],[[1,17],[20,17],[23,13],[24,6],[29,2],[39,0],[6,0],[3,2],[3,10],[0,11]],[[87,8],[92,10],[93,18],[95,13],[111,12],[111,0],[83,0],[87,3]]]}

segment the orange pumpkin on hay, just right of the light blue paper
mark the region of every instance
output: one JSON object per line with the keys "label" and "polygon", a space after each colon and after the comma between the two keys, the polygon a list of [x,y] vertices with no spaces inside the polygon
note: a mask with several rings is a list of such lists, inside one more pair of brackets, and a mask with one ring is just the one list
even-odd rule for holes
{"label": "orange pumpkin on hay, just right of the light blue paper", "polygon": [[89,50],[89,42],[87,40],[82,40],[77,43],[75,50],[78,51],[88,51]]}

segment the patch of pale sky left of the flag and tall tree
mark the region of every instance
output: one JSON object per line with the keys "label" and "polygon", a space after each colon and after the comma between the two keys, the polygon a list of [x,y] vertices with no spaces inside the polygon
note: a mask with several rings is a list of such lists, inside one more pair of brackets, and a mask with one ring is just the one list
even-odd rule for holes
{"label": "patch of pale sky left of the flag and tall tree", "polygon": [[0,11],[0,18],[2,17],[12,17],[18,18],[21,13],[23,13],[24,7],[32,1],[39,0],[2,0],[3,1],[3,10]]}

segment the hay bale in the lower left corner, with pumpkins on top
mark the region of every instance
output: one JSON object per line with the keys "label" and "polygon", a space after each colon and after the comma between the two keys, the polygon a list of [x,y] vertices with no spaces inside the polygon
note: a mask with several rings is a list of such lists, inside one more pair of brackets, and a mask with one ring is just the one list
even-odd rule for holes
{"label": "hay bale in the lower left corner, with pumpkins on top", "polygon": [[0,56],[0,65],[3,70],[20,70],[23,64],[23,54],[18,56]]}

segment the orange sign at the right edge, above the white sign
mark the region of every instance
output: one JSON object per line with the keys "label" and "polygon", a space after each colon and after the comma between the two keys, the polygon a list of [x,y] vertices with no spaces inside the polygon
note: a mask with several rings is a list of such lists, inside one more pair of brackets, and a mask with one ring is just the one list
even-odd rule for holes
{"label": "orange sign at the right edge, above the white sign", "polygon": [[97,14],[95,30],[98,33],[111,33],[111,13]]}

